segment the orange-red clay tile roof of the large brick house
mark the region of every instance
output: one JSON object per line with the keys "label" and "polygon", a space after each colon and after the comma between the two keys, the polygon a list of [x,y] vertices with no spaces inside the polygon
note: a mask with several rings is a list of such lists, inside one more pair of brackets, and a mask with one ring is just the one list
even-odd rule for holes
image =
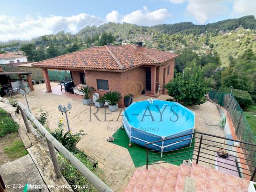
{"label": "orange-red clay tile roof of the large brick house", "polygon": [[43,60],[33,64],[33,66],[125,70],[143,64],[161,64],[178,56],[176,53],[145,47],[138,48],[142,48],[142,51],[138,51],[135,45],[94,46]]}

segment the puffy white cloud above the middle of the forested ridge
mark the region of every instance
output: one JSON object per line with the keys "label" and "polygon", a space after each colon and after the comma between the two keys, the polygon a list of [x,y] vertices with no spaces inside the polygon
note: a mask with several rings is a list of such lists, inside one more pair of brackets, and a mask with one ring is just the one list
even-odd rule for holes
{"label": "puffy white cloud above the middle of the forested ridge", "polygon": [[169,17],[166,8],[157,9],[155,11],[148,11],[148,7],[143,6],[143,10],[137,10],[126,15],[121,15],[118,11],[113,10],[106,16],[106,21],[116,22],[116,23],[133,23],[136,25],[143,26],[153,26],[157,24],[164,23],[166,18]]}

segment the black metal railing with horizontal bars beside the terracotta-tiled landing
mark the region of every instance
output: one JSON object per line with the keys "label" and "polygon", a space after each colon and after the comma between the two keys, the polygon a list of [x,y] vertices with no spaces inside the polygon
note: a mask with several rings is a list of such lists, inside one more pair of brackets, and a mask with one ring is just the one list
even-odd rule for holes
{"label": "black metal railing with horizontal bars beside the terracotta-tiled landing", "polygon": [[[198,134],[198,136],[195,136],[196,134]],[[200,137],[199,137],[199,135],[200,135]],[[194,140],[194,141],[191,140],[190,146],[188,146],[189,144],[187,146],[184,146],[184,144],[183,145],[168,146],[165,149],[167,149],[167,148],[170,148],[170,149],[165,150],[165,151],[161,151],[161,152],[159,151],[159,149],[155,149],[155,147],[157,147],[157,146],[162,146],[163,141],[167,141],[164,144],[166,146],[168,144],[178,143],[178,142],[183,141],[184,140],[183,138],[185,136],[190,136],[191,139],[193,138],[193,139],[197,139],[197,140]],[[203,138],[203,136],[209,136],[209,137],[213,137],[213,138],[223,139],[224,141],[223,142],[222,141],[214,141],[214,139]],[[177,139],[177,138],[180,138],[180,139]],[[175,142],[173,142],[173,139],[175,139]],[[168,142],[168,140],[170,140],[170,141]],[[219,159],[214,159],[214,158],[218,157],[218,156],[215,155],[216,152],[218,152],[218,151],[215,150],[215,149],[212,149],[212,148],[208,148],[208,147],[215,147],[215,148],[220,148],[221,147],[222,148],[222,147],[226,146],[228,148],[225,147],[225,150],[227,150],[229,152],[235,152],[236,155],[235,154],[233,155],[232,153],[229,154],[230,156],[234,157],[235,159],[228,159],[229,162],[225,162],[224,165],[236,167],[237,170],[227,168],[224,165],[223,166],[215,165],[215,164],[210,163],[210,162],[209,162],[209,164],[215,165],[215,166],[218,166],[218,167],[222,167],[222,168],[226,168],[226,169],[232,170],[234,172],[238,172],[238,174],[240,176],[241,176],[241,174],[248,175],[248,176],[250,176],[250,180],[252,181],[254,179],[255,175],[256,175],[256,166],[253,164],[253,163],[255,163],[255,161],[250,160],[249,164],[248,164],[247,163],[248,159],[246,159],[245,157],[246,156],[256,157],[254,155],[256,151],[253,150],[253,149],[247,149],[247,147],[243,147],[243,145],[242,145],[242,147],[241,146],[229,145],[225,142],[227,140],[230,140],[230,141],[233,141],[233,142],[238,142],[238,143],[245,144],[245,145],[249,145],[253,149],[256,146],[256,144],[254,144],[254,143],[248,143],[248,142],[239,141],[239,140],[236,140],[236,139],[225,138],[225,137],[221,137],[221,136],[212,135],[212,134],[209,134],[209,133],[191,132],[191,133],[187,133],[187,134],[183,134],[183,135],[179,135],[179,136],[175,136],[175,137],[171,137],[171,138],[167,138],[167,139],[157,140],[157,141],[154,141],[154,142],[144,144],[144,146],[147,148],[146,168],[148,168],[148,165],[174,162],[172,159],[176,159],[176,158],[179,158],[180,160],[175,160],[175,161],[182,161],[182,160],[188,160],[188,159],[192,160],[193,159],[193,160],[195,160],[196,164],[198,162],[206,162],[206,161],[203,161],[203,159],[200,159],[200,158],[205,158],[205,159],[213,160],[215,162],[223,163]],[[205,143],[204,141],[206,141],[206,142],[210,141],[214,144]],[[155,143],[161,143],[161,144],[156,145]],[[198,146],[191,145],[193,143],[194,144],[197,143],[199,145]],[[152,146],[152,145],[149,146],[150,144],[154,144],[154,146]],[[215,144],[217,144],[219,146],[216,146]],[[221,144],[221,146],[220,146],[220,144]],[[222,146],[222,145],[224,145],[224,146]],[[173,147],[178,147],[178,146],[183,146],[183,147],[178,148],[178,149],[171,149]],[[235,148],[230,148],[229,146],[235,147]],[[236,150],[236,147],[237,147],[237,149],[240,149],[240,150]],[[179,151],[180,149],[186,149],[186,151],[180,152]],[[207,150],[209,152],[214,152],[214,154],[204,152],[203,150]],[[243,151],[243,150],[245,150],[245,151]],[[246,150],[248,150],[248,151],[246,152]],[[171,152],[171,153],[169,153],[169,152]],[[186,152],[188,154],[184,155],[184,152]],[[192,152],[192,154],[191,154],[191,152]],[[250,152],[253,152],[253,153],[250,153]],[[237,153],[242,154],[243,156],[240,156],[239,154],[237,155]],[[209,157],[206,157],[205,155],[202,155],[202,154],[207,154],[207,155],[209,155]],[[241,159],[243,159],[243,160],[240,162]],[[234,164],[234,162],[236,163],[236,165]]]}

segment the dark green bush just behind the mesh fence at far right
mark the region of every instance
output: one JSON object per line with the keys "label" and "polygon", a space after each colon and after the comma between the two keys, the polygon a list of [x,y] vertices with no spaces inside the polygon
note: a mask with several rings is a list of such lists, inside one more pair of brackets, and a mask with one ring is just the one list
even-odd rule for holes
{"label": "dark green bush just behind the mesh fence at far right", "polygon": [[[228,87],[222,87],[219,90],[219,92],[224,93],[230,93],[230,91],[231,89]],[[242,109],[244,109],[245,107],[249,107],[253,104],[252,98],[247,91],[233,89],[232,93]]]}

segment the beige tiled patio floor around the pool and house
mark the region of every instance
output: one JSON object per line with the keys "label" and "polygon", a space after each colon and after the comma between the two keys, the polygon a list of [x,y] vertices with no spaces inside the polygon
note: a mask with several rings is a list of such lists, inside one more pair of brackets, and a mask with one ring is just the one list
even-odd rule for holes
{"label": "beige tiled patio floor around the pool and house", "polygon": [[[60,92],[58,83],[51,83],[53,93]],[[108,108],[97,109],[94,106],[84,106],[80,98],[73,98],[62,91],[63,94],[45,93],[45,84],[34,86],[34,92],[29,93],[28,102],[34,116],[39,116],[38,110],[42,108],[50,113],[49,126],[54,129],[58,125],[59,119],[65,117],[58,111],[58,105],[72,104],[70,114],[68,114],[69,124],[72,132],[84,130],[85,135],[77,146],[87,152],[90,156],[99,161],[99,165],[103,168],[108,180],[108,184],[114,191],[123,191],[128,184],[129,179],[135,172],[135,166],[128,153],[128,150],[109,143],[106,141],[109,136],[113,135],[122,125],[121,111],[110,113]],[[59,91],[58,91],[59,89]],[[69,93],[68,93],[69,94]],[[149,97],[140,95],[135,101],[145,100]],[[168,95],[160,95],[158,99],[167,99]],[[24,105],[25,98],[17,95],[14,99],[18,99]],[[210,124],[220,122],[219,112],[214,104],[206,102],[200,106],[191,107],[196,115],[203,117]],[[67,125],[65,124],[66,129]],[[215,135],[224,136],[224,132],[219,126],[207,126],[202,118],[196,117],[195,128],[197,131],[208,132]]]}

